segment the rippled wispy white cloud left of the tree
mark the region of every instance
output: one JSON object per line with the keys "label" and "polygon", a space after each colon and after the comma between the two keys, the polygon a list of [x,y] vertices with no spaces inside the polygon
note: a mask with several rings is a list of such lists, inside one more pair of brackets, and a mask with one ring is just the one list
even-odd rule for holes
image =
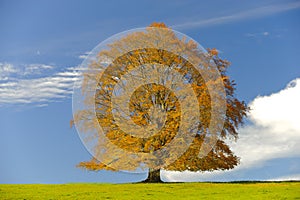
{"label": "rippled wispy white cloud left of the tree", "polygon": [[4,64],[0,70],[6,72],[8,77],[0,82],[0,106],[37,103],[38,107],[44,107],[47,102],[70,97],[74,82],[81,74],[77,67],[46,77],[28,78],[29,74],[40,74],[52,68],[50,65],[31,64],[21,71],[12,64]]}

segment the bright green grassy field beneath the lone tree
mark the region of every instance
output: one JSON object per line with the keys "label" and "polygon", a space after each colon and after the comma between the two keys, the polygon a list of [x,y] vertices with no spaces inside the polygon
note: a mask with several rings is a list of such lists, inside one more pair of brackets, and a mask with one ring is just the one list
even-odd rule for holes
{"label": "bright green grassy field beneath the lone tree", "polygon": [[0,184],[0,199],[300,199],[300,182]]}

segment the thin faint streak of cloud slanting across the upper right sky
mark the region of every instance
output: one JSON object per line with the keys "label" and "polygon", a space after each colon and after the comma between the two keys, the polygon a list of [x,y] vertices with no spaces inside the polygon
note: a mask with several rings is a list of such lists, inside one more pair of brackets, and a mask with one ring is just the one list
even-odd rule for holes
{"label": "thin faint streak of cloud slanting across the upper right sky", "polygon": [[205,27],[205,26],[214,26],[234,21],[241,21],[241,20],[247,20],[247,19],[254,19],[254,18],[260,18],[268,15],[273,15],[276,13],[281,13],[293,9],[299,9],[300,8],[300,2],[292,2],[292,3],[284,3],[284,4],[277,4],[277,5],[269,5],[259,8],[254,8],[251,10],[243,10],[241,12],[219,16],[219,17],[213,17],[208,19],[199,19],[199,20],[193,20],[192,22],[186,22],[181,24],[175,24],[171,26],[174,29],[191,29],[195,27]]}

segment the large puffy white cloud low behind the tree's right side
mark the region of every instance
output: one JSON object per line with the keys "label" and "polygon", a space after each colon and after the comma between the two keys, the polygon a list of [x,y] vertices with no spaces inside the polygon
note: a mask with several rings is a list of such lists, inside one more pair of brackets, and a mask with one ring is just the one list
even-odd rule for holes
{"label": "large puffy white cloud low behind the tree's right side", "polygon": [[250,103],[250,123],[238,130],[240,138],[236,143],[229,142],[241,157],[241,164],[235,169],[204,173],[165,171],[163,176],[169,181],[223,180],[245,170],[263,167],[272,159],[300,157],[299,102],[300,78],[291,81],[283,90],[258,96]]}

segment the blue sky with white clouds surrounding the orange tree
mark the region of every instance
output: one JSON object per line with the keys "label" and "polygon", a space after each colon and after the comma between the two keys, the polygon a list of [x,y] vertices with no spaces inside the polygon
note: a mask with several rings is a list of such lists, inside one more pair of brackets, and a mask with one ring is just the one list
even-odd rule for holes
{"label": "blue sky with white clouds surrounding the orange tree", "polygon": [[76,167],[91,155],[72,119],[77,70],[122,31],[164,22],[231,62],[251,107],[233,170],[162,172],[164,181],[300,180],[300,1],[0,1],[0,183],[137,182]]}

